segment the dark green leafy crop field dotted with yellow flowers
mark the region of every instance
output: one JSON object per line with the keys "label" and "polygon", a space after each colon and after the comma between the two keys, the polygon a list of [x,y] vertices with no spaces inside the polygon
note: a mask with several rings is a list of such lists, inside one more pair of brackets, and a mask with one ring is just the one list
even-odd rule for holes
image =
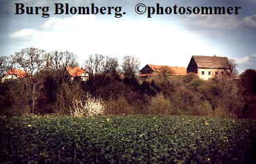
{"label": "dark green leafy crop field dotted with yellow flowers", "polygon": [[0,117],[5,163],[254,163],[256,121],[179,116]]}

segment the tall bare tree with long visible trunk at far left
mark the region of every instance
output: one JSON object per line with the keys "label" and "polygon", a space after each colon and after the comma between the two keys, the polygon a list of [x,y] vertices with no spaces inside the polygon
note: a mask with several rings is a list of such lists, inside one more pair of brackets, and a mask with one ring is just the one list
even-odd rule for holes
{"label": "tall bare tree with long visible trunk at far left", "polygon": [[35,102],[38,97],[37,88],[39,81],[39,72],[45,67],[45,50],[38,48],[24,48],[20,52],[15,52],[11,56],[12,64],[16,68],[20,68],[25,71],[26,76],[18,77],[22,83],[24,83],[26,90],[26,105],[28,108],[31,106],[30,102],[32,100],[31,112],[35,113]]}

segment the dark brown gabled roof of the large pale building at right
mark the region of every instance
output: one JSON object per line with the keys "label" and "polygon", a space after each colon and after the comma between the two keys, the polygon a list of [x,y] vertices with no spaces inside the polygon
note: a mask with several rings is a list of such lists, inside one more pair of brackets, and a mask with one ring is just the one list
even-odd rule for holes
{"label": "dark brown gabled roof of the large pale building at right", "polygon": [[198,68],[229,68],[227,57],[220,56],[192,56]]}

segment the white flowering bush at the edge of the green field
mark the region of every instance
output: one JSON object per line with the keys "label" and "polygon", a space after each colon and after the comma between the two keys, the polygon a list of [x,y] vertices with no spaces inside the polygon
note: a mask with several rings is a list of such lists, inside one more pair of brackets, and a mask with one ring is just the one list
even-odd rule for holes
{"label": "white flowering bush at the edge of the green field", "polygon": [[100,99],[92,98],[89,94],[86,95],[86,100],[74,99],[70,108],[71,115],[82,116],[96,116],[103,115],[105,107],[103,101]]}

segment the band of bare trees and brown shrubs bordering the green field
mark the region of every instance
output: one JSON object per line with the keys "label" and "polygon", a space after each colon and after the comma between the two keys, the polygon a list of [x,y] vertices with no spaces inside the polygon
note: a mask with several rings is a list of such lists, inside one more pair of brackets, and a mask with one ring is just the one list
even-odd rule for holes
{"label": "band of bare trees and brown shrubs bordering the green field", "polygon": [[[256,117],[256,70],[245,70],[238,79],[227,75],[203,81],[193,73],[170,76],[163,67],[162,75],[141,79],[138,58],[125,56],[120,64],[117,58],[95,54],[82,65],[88,81],[71,81],[67,66],[78,65],[71,52],[33,47],[1,56],[1,77],[12,68],[26,75],[0,84],[0,114]],[[236,64],[232,66],[236,72]]]}

